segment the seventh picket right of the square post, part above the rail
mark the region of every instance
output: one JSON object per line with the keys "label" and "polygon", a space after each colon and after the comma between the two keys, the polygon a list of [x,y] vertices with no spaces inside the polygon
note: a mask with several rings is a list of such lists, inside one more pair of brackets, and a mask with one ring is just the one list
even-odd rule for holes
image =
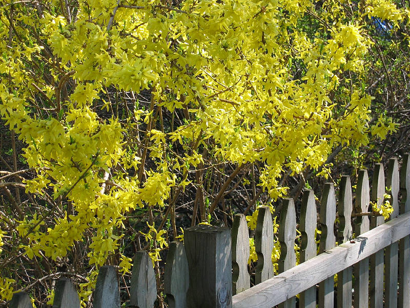
{"label": "seventh picket right of the square post, part above the rail", "polygon": [[[359,178],[356,186],[356,204],[357,213],[367,213],[370,204],[370,187],[368,184],[367,170],[359,170]],[[356,218],[356,236],[367,232],[370,229],[370,221],[367,216],[358,216]]]}

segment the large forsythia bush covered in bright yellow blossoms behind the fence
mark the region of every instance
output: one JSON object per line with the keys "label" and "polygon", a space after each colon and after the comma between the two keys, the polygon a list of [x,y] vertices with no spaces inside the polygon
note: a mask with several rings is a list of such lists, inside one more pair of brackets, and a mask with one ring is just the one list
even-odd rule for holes
{"label": "large forsythia bush covered in bright yellow blossoms behind the fence", "polygon": [[[86,302],[95,268],[116,259],[129,273],[133,214],[147,217],[141,238],[158,262],[178,195],[205,187],[211,158],[236,174],[259,165],[276,200],[284,172],[394,131],[363,85],[368,33],[372,17],[395,28],[408,14],[386,0],[0,2],[0,115],[32,172],[14,186],[0,178],[30,199],[20,215],[0,213],[2,299],[18,291],[7,268],[22,253],[56,264],[83,249]],[[221,197],[207,197],[205,215]]]}

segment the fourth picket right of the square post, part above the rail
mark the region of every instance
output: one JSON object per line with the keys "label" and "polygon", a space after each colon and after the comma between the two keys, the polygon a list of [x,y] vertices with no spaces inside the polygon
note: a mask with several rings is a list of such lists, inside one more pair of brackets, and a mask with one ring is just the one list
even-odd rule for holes
{"label": "fourth picket right of the square post, part above the rail", "polygon": [[300,232],[302,234],[300,263],[316,256],[316,217],[314,192],[312,189],[305,190],[303,192],[302,206],[300,208]]}

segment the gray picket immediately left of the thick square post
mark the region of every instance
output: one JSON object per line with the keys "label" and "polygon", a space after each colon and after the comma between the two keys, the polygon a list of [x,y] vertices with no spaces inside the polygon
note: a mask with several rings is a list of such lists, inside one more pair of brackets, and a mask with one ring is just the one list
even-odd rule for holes
{"label": "gray picket immediately left of the thick square post", "polygon": [[182,242],[171,242],[164,273],[164,291],[170,308],[187,308],[189,271]]}

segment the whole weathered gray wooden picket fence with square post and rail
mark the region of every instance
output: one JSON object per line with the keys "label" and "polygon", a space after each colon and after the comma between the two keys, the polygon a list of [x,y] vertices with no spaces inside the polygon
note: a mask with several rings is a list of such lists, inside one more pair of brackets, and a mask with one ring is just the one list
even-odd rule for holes
{"label": "whole weathered gray wooden picket fence with square post and rail", "polygon": [[[185,243],[172,242],[165,267],[165,289],[171,308],[316,308],[410,307],[410,156],[404,156],[399,172],[391,159],[385,180],[383,166],[374,169],[372,191],[367,171],[359,171],[356,202],[348,176],[340,181],[338,204],[335,188],[326,183],[321,199],[321,229],[317,254],[317,213],[314,192],[303,194],[299,231],[300,264],[296,265],[294,243],[296,213],[292,199],[285,199],[280,213],[278,238],[281,254],[279,275],[274,276],[271,253],[274,244],[272,216],[259,208],[255,233],[258,254],[255,283],[248,273],[249,230],[243,215],[236,215],[232,230],[197,225],[185,230]],[[400,173],[400,175],[399,175]],[[400,177],[399,177],[400,176]],[[399,181],[400,178],[400,181]],[[372,216],[370,202],[383,202],[385,187],[391,187],[391,218]],[[399,190],[401,203],[399,208]],[[339,218],[334,234],[336,210]],[[399,215],[400,214],[400,215]],[[352,216],[355,224],[352,226]],[[354,236],[356,234],[356,236]],[[336,240],[340,245],[335,247]],[[335,292],[334,275],[337,274]],[[130,306],[153,308],[156,282],[151,260],[144,251],[134,258]],[[335,296],[336,294],[336,296]],[[336,298],[335,298],[336,297]],[[26,293],[16,293],[10,308],[31,307]],[[94,308],[120,306],[118,274],[113,266],[100,268]],[[69,279],[55,285],[54,308],[78,308],[79,299]]]}

